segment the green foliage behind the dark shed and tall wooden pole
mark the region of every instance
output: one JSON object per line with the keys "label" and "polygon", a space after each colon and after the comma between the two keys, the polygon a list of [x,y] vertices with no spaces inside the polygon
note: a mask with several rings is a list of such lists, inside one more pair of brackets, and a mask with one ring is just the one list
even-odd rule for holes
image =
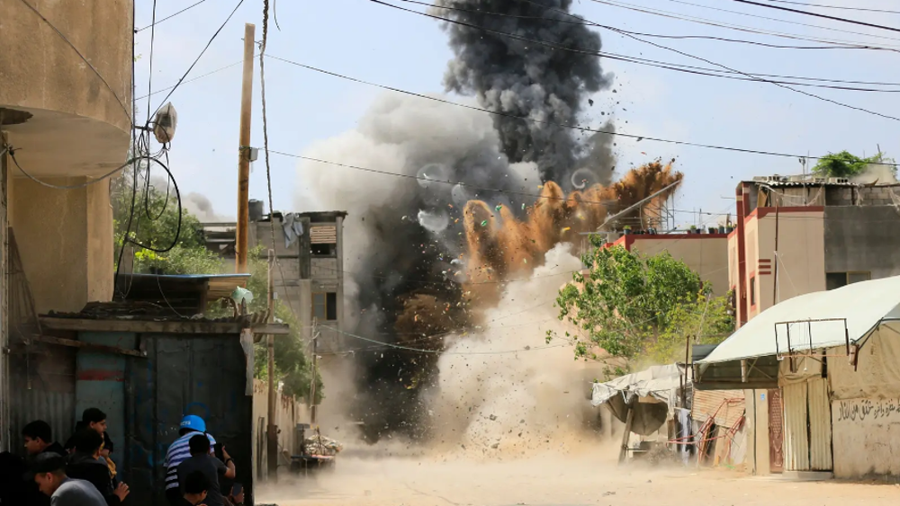
{"label": "green foliage behind the dark shed and tall wooden pole", "polygon": [[[121,248],[128,227],[132,200],[132,184],[136,181],[133,172],[126,171],[124,176],[113,183],[112,209],[115,225],[116,247]],[[148,185],[146,178],[138,173],[138,191],[134,196],[136,202],[134,216],[131,218],[130,239],[139,244],[151,245],[157,249],[165,249],[175,241],[178,224],[178,206],[174,193],[166,191],[164,184]],[[165,253],[156,253],[137,246],[134,254],[135,272],[162,272],[165,274],[223,274],[230,271],[226,263],[216,253],[206,249],[203,244],[200,220],[186,209],[181,210],[181,233],[175,247]],[[266,259],[262,257],[262,249],[257,248],[248,255],[250,278],[247,289],[253,293],[253,300],[247,310],[250,312],[266,311],[268,296],[268,273]],[[220,302],[212,302],[207,308],[207,315],[226,315]],[[295,395],[309,401],[311,390],[311,360],[303,342],[301,326],[290,307],[282,301],[275,301],[275,317],[289,324],[290,335],[275,338],[275,373],[276,380],[281,382],[285,395]],[[259,342],[255,348],[254,370],[258,378],[266,378],[267,351],[266,342]],[[324,397],[322,380],[316,375],[316,401]]]}

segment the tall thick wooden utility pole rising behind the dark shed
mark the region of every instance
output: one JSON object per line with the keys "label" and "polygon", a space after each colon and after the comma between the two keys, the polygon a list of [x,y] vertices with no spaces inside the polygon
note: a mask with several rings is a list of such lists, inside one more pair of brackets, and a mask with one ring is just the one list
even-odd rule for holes
{"label": "tall thick wooden utility pole rising behind the dark shed", "polygon": [[253,104],[253,49],[257,27],[244,25],[244,82],[240,88],[240,137],[238,141],[238,230],[235,272],[247,272],[250,193],[250,106]]}

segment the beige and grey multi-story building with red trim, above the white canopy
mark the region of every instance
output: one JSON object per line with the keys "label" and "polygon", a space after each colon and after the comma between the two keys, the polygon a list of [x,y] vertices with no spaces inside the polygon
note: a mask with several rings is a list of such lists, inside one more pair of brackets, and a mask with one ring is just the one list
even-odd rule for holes
{"label": "beige and grey multi-story building with red trim, above the white canopy", "polygon": [[790,297],[900,274],[900,184],[768,176],[741,182],[728,235],[738,324]]}

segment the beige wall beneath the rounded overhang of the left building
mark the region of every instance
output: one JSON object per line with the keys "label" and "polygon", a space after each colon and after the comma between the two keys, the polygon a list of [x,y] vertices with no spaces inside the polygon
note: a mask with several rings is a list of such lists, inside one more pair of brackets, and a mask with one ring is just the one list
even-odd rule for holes
{"label": "beige wall beneath the rounded overhang of the left building", "polygon": [[[84,178],[49,182],[71,185]],[[18,179],[9,197],[10,225],[38,313],[79,311],[112,299],[112,209],[109,183],[58,190]]]}

